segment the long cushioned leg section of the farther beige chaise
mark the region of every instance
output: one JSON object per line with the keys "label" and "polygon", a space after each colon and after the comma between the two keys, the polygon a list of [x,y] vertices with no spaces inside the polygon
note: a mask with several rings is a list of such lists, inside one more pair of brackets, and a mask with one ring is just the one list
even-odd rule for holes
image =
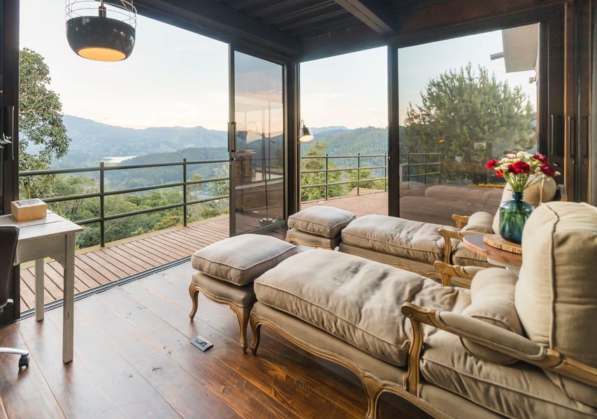
{"label": "long cushioned leg section of the farther beige chaise", "polygon": [[361,216],[342,230],[340,251],[428,275],[444,258],[439,231],[445,228],[395,216]]}

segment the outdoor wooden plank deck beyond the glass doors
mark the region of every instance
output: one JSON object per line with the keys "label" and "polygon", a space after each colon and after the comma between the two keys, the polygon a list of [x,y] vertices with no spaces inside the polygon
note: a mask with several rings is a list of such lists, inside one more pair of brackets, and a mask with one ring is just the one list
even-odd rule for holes
{"label": "outdoor wooden plank deck beyond the glass doors", "polygon": [[[484,191],[481,192],[485,193]],[[499,202],[501,190],[496,189],[495,192]],[[401,214],[405,214],[406,218],[419,221],[452,224],[450,216],[454,212],[470,214],[474,211],[467,206],[470,203],[466,200],[445,201],[443,205],[438,205],[436,198],[430,198],[429,201],[425,199],[422,196],[401,198]],[[387,200],[388,194],[380,191],[366,195],[312,201],[303,203],[303,208],[326,205],[343,208],[357,216],[387,214]],[[285,237],[284,230],[273,231],[271,234],[282,239]],[[228,236],[229,218],[225,215],[188,227],[172,228],[150,235],[131,237],[122,242],[113,242],[103,249],[87,249],[78,252],[75,257],[75,293],[185,258],[198,249]],[[44,281],[46,304],[62,298],[62,281],[62,266],[57,262],[48,261],[45,264]],[[21,311],[34,307],[34,282],[33,264],[22,266]]]}

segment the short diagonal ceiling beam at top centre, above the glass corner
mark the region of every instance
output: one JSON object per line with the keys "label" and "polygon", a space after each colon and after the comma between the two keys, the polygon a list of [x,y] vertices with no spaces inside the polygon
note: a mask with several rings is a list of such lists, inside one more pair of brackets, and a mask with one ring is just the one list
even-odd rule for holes
{"label": "short diagonal ceiling beam at top centre, above the glass corner", "polygon": [[334,0],[381,36],[396,34],[396,13],[379,0]]}

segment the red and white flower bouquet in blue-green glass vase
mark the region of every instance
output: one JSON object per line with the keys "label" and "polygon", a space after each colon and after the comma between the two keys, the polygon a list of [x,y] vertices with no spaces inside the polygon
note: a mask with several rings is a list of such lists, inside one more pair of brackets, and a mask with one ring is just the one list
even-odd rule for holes
{"label": "red and white flower bouquet in blue-green glass vase", "polygon": [[520,244],[524,223],[535,209],[522,199],[524,190],[532,184],[542,182],[545,177],[559,175],[559,172],[549,166],[547,158],[542,154],[527,152],[506,154],[502,159],[488,161],[486,167],[487,170],[494,170],[496,176],[503,177],[512,189],[512,200],[500,205],[500,235],[505,240]]}

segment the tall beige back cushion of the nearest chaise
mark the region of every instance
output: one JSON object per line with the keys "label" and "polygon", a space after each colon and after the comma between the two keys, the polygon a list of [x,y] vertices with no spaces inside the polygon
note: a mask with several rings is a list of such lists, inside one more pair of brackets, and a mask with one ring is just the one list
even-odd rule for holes
{"label": "tall beige back cushion of the nearest chaise", "polygon": [[[597,367],[597,208],[541,205],[524,226],[522,253],[515,302],[526,335]],[[597,406],[596,388],[558,382],[570,397]]]}

